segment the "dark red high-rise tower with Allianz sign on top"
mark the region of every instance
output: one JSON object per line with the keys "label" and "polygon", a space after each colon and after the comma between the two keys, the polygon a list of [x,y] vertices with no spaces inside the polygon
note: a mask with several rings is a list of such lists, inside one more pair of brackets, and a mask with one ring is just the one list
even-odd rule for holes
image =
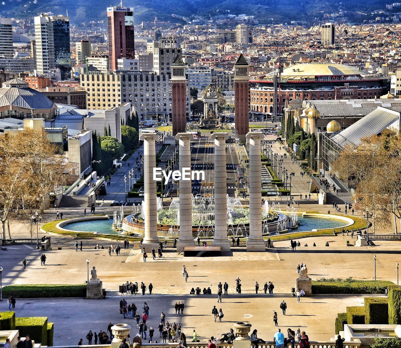
{"label": "dark red high-rise tower with Allianz sign on top", "polygon": [[132,7],[107,8],[109,33],[109,67],[117,69],[117,59],[135,59],[134,12]]}

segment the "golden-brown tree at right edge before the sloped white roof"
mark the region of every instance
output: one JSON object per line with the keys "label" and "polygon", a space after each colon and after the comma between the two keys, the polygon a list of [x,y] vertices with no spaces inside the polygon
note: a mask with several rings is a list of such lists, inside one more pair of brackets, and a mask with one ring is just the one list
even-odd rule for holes
{"label": "golden-brown tree at right edge before the sloped white roof", "polygon": [[[401,139],[387,131],[348,145],[334,163],[361,210],[373,213],[375,225],[387,227],[401,218]],[[397,224],[395,224],[397,232]]]}

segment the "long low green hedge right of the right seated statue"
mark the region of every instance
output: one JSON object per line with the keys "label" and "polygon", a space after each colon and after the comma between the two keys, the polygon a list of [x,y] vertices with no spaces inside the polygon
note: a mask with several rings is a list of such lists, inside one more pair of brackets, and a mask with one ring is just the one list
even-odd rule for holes
{"label": "long low green hedge right of the right seated statue", "polygon": [[312,280],[313,294],[384,294],[393,282],[384,280],[326,279]]}

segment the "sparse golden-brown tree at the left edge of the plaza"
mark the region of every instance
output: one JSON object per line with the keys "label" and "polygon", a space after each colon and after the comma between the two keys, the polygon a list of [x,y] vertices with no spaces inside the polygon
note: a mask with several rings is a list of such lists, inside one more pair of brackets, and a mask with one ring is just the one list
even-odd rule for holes
{"label": "sparse golden-brown tree at the left edge of the plaza", "polygon": [[[0,221],[3,239],[12,209],[43,210],[49,192],[65,184],[71,167],[47,138],[45,130],[27,129],[0,136]],[[8,236],[11,238],[10,229]]]}

